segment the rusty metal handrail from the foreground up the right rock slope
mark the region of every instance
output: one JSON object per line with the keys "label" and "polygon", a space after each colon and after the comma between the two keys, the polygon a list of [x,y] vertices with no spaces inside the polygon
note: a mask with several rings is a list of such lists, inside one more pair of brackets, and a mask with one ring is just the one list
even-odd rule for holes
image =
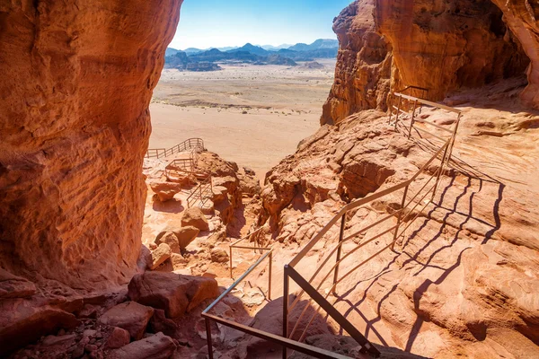
{"label": "rusty metal handrail from the foreground up the right rock slope", "polygon": [[[208,311],[211,308],[213,308],[213,306],[215,306],[216,303],[218,301],[220,301],[220,299],[225,297],[225,295],[227,293],[231,293],[232,290],[235,288],[235,286],[238,285],[239,282],[241,282],[245,278],[245,276],[249,275],[255,267],[260,265],[261,260],[263,260],[263,258],[267,258],[269,256],[268,253],[272,253],[271,249],[265,249],[264,248],[264,250],[270,250],[270,252],[264,254],[254,265],[252,265],[252,267],[250,267],[247,270],[247,272],[245,272],[245,274],[243,274],[243,276],[241,276],[236,282],[234,282],[234,285],[232,285],[225,293],[222,294],[220,299],[217,299],[216,302],[212,303],[212,305],[210,307],[208,307],[207,311],[204,311],[203,314],[202,314],[202,316],[206,320],[206,325],[207,325],[208,349],[209,349],[208,352],[209,352],[209,358],[210,359],[213,359],[213,351],[212,351],[212,344],[211,344],[212,339],[211,339],[211,330],[210,330],[210,320],[215,320],[218,323],[221,323],[221,324],[223,324],[225,326],[228,326],[230,328],[235,328],[237,330],[243,331],[244,333],[247,333],[247,334],[252,335],[254,337],[261,337],[263,339],[269,340],[270,342],[277,343],[278,345],[283,347],[283,358],[287,358],[287,349],[296,350],[298,352],[301,352],[301,353],[304,353],[304,354],[307,354],[307,355],[312,355],[312,356],[318,357],[318,358],[347,358],[346,356],[338,355],[336,353],[331,353],[331,352],[325,351],[323,349],[316,348],[314,346],[309,346],[309,345],[306,345],[305,343],[302,343],[302,340],[305,339],[306,330],[310,326],[310,324],[313,322],[313,320],[315,318],[315,315],[316,315],[316,313],[318,311],[314,311],[313,316],[311,317],[311,319],[308,321],[307,325],[305,326],[305,330],[302,333],[302,335],[299,337],[299,340],[293,340],[291,338],[292,335],[294,334],[294,332],[296,331],[297,322],[299,322],[301,320],[301,318],[303,318],[303,316],[305,315],[305,311],[306,311],[307,306],[310,305],[310,303],[313,302],[313,301],[316,302],[316,304],[318,304],[319,308],[322,308],[324,311],[326,311],[326,313],[329,316],[331,316],[331,318],[333,320],[335,320],[340,325],[341,328],[346,330],[349,333],[349,335],[351,337],[353,337],[358,342],[358,344],[360,346],[362,346],[364,351],[366,351],[368,354],[373,355],[373,356],[380,355],[380,352],[376,349],[376,347],[373,346],[372,343],[370,343],[367,340],[367,338],[364,337],[358,331],[358,329],[355,328],[349,322],[349,320],[347,320],[343,315],[340,314],[339,311],[336,310],[336,308],[334,307],[334,304],[337,301],[337,299],[335,300],[335,302],[331,303],[331,302],[328,302],[328,297],[329,297],[329,295],[331,293],[335,293],[337,285],[339,285],[344,279],[346,279],[352,273],[357,271],[359,267],[366,264],[372,258],[376,258],[376,256],[383,253],[384,250],[388,250],[390,248],[393,250],[394,243],[397,241],[397,239],[402,236],[402,234],[406,231],[406,229],[411,225],[411,223],[413,223],[415,221],[415,219],[424,211],[424,209],[430,203],[432,203],[432,200],[434,199],[434,197],[436,195],[436,192],[437,192],[437,186],[438,186],[438,183],[439,183],[439,180],[440,180],[440,176],[441,176],[442,173],[444,173],[445,167],[446,167],[446,165],[448,165],[449,160],[450,160],[450,158],[452,156],[453,146],[455,144],[456,131],[457,131],[457,128],[459,126],[460,118],[461,118],[461,111],[460,110],[452,109],[452,108],[446,107],[445,105],[437,104],[435,102],[430,102],[430,101],[423,100],[423,99],[414,98],[414,97],[408,96],[408,95],[403,95],[402,93],[397,93],[395,98],[399,98],[399,107],[395,108],[395,109],[397,109],[397,116],[396,116],[396,119],[395,119],[395,130],[397,129],[397,124],[398,124],[400,113],[407,113],[407,111],[402,110],[400,108],[401,107],[400,106],[401,101],[406,100],[406,101],[413,101],[414,102],[414,108],[413,108],[412,113],[411,113],[411,120],[412,121],[411,121],[411,127],[410,127],[409,135],[408,135],[409,138],[411,137],[411,128],[414,125],[413,120],[415,118],[415,111],[418,108],[417,107],[418,104],[426,105],[426,106],[432,106],[432,107],[436,107],[436,108],[439,108],[439,109],[447,109],[452,113],[456,113],[457,118],[455,120],[455,127],[453,128],[453,130],[447,131],[445,127],[442,127],[444,130],[446,130],[446,132],[451,133],[451,136],[449,138],[443,138],[443,137],[437,136],[437,138],[440,138],[440,139],[444,140],[444,144],[442,144],[437,149],[437,152],[432,155],[432,157],[429,159],[429,161],[427,161],[426,163],[423,164],[423,166],[421,166],[420,170],[417,171],[411,177],[410,180],[405,180],[402,183],[397,184],[397,185],[395,185],[395,186],[393,186],[391,188],[386,188],[386,189],[381,190],[381,191],[379,191],[379,192],[377,192],[377,193],[375,193],[375,194],[373,194],[371,196],[358,199],[358,200],[356,200],[354,202],[349,203],[347,206],[344,206],[340,210],[340,212],[337,215],[334,215],[331,218],[331,221],[329,223],[327,223],[323,227],[323,229],[320,232],[318,232],[314,236],[314,238],[305,245],[305,247],[302,250],[299,251],[299,253],[296,255],[296,257],[293,258],[287,265],[285,265],[285,268],[284,268],[284,281],[283,281],[283,335],[282,335],[282,337],[276,336],[276,335],[268,333],[268,332],[261,331],[260,329],[247,327],[247,326],[244,326],[242,324],[235,323],[234,321],[224,320],[222,318],[219,318],[219,317],[213,316],[211,314],[208,314]],[[393,104],[392,104],[392,107],[393,107]],[[391,120],[392,112],[390,112],[390,120]],[[417,122],[422,122],[422,123],[426,123],[427,125],[430,124],[430,125],[433,125],[433,126],[436,125],[436,124],[429,123],[429,121],[423,121],[423,120],[421,120],[421,121],[418,120]],[[434,127],[437,127],[437,126],[434,126]],[[438,127],[438,129],[442,129],[442,128]],[[418,180],[420,174],[424,173],[429,168],[430,164],[432,162],[434,162],[435,160],[437,160],[438,158],[439,158],[441,164],[440,164],[439,168],[437,169],[437,171],[435,171],[429,177],[429,180],[427,180],[426,183],[423,184],[423,186],[417,191],[417,193],[415,195],[412,195],[411,198],[409,198],[408,197],[408,192],[409,192],[409,189],[410,189],[411,185],[416,180]],[[427,188],[429,186],[429,183],[433,179],[436,179],[434,185],[430,186],[428,190],[425,190],[425,188]],[[347,219],[346,215],[350,210],[356,209],[359,206],[365,206],[365,205],[375,201],[376,199],[378,199],[380,197],[384,197],[384,196],[393,194],[394,192],[399,191],[401,189],[404,190],[404,193],[402,195],[402,204],[401,204],[401,207],[399,209],[394,210],[389,215],[385,215],[382,219],[376,221],[375,223],[371,223],[371,224],[367,225],[366,227],[362,228],[361,230],[359,230],[357,232],[354,232],[353,234],[349,234],[347,236],[344,235],[346,219]],[[420,209],[418,214],[415,215],[414,218],[411,221],[409,221],[410,223],[408,223],[408,225],[404,228],[404,230],[402,230],[402,232],[399,232],[401,223],[408,220],[408,217],[420,205],[421,201],[425,197],[429,196],[429,194],[431,192],[432,192],[431,200],[428,201],[425,206],[422,206],[422,208]],[[421,193],[423,193],[422,197],[420,197]],[[416,199],[418,197],[420,197],[420,199],[416,201]],[[413,206],[414,204],[415,204],[415,206]],[[411,206],[413,206],[413,207],[411,207]],[[341,250],[342,250],[343,244],[345,242],[351,240],[352,238],[356,238],[359,234],[367,232],[367,230],[372,229],[372,228],[378,226],[381,223],[384,223],[384,222],[386,222],[388,220],[391,220],[393,217],[397,218],[396,224],[394,224],[393,226],[391,226],[388,229],[385,229],[382,232],[377,233],[376,235],[374,235],[373,237],[371,237],[367,241],[362,241],[361,243],[358,244],[358,246],[356,246],[352,250],[349,250],[348,253],[346,253],[344,256],[341,257],[341,254],[342,254]],[[331,227],[335,223],[337,223],[339,221],[340,221],[340,235],[339,235],[338,244],[335,246],[335,248],[333,248],[333,250],[331,250],[330,254],[323,260],[322,265],[318,266],[318,268],[316,269],[316,271],[315,271],[314,275],[311,277],[311,279],[306,280],[303,276],[301,276],[296,271],[295,266],[297,265],[297,263],[299,263],[299,261],[302,258],[305,258],[305,255],[310,250],[312,250],[314,248],[314,245],[318,241],[321,241],[323,236],[327,232],[329,232],[331,230]],[[255,231],[255,232],[258,232],[260,230],[261,229]],[[237,243],[239,243],[240,241],[244,241],[244,240],[250,238],[255,232],[250,233],[248,236],[246,236],[246,237],[244,237],[244,238],[242,238],[242,239],[240,239],[238,241],[234,241],[234,243],[232,243],[231,246],[236,246]],[[363,260],[362,262],[360,262],[355,267],[352,267],[351,269],[349,269],[349,271],[347,273],[345,273],[344,275],[339,276],[340,263],[342,263],[345,259],[350,258],[350,256],[353,253],[357,252],[359,249],[363,248],[368,243],[371,243],[372,241],[375,241],[376,239],[384,236],[385,234],[392,233],[392,232],[393,232],[393,241],[391,241],[388,244],[384,245],[384,248],[382,248],[381,250],[378,250],[375,254],[373,254],[369,258]],[[243,246],[238,246],[238,248],[241,248],[241,247],[243,247]],[[256,250],[257,248],[249,247],[248,249]],[[317,285],[317,287],[314,287],[314,285],[312,285],[312,282],[314,281],[316,276],[318,276],[320,274],[323,267],[328,263],[328,261],[335,254],[335,252],[337,252],[337,260],[335,261],[335,264],[329,269],[329,271],[325,274],[325,276],[323,276],[323,279],[319,283],[319,285]],[[231,258],[232,258],[232,256],[231,256]],[[232,268],[232,265],[230,267]],[[326,282],[326,280],[329,278],[329,276],[331,276],[331,273],[333,273],[333,281],[332,281],[331,288],[325,295],[323,295],[323,294],[319,293],[319,290],[322,287],[322,285]],[[296,296],[296,300],[294,302],[292,302],[291,305],[288,305],[289,279],[292,279],[301,288],[301,292]],[[292,332],[288,333],[288,313],[292,310],[292,308],[294,308],[296,306],[296,304],[300,300],[301,295],[303,295],[304,293],[307,293],[309,295],[310,299],[307,302],[307,304],[305,305],[304,311],[302,311],[302,313],[300,314],[300,316],[296,320],[296,325],[293,328]]]}

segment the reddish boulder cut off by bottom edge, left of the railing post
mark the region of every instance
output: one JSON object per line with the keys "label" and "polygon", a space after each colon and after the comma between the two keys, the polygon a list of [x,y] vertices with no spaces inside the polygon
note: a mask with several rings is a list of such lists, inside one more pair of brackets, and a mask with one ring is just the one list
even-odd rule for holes
{"label": "reddish boulder cut off by bottom edge, left of the railing post", "polygon": [[163,333],[146,337],[110,352],[110,359],[168,359],[176,350],[171,337]]}

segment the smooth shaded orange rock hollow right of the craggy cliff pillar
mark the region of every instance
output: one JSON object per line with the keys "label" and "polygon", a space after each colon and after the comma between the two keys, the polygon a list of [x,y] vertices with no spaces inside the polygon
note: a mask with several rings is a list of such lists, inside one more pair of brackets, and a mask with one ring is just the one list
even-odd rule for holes
{"label": "smooth shaded orange rock hollow right of the craggy cliff pillar", "polygon": [[431,100],[522,74],[528,60],[490,0],[377,2],[379,31],[393,47],[393,89],[429,89]]}

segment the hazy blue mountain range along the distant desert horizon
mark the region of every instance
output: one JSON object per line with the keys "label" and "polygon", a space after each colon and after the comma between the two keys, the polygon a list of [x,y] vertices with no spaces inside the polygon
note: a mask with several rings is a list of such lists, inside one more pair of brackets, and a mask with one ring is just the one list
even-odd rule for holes
{"label": "hazy blue mountain range along the distant desert horizon", "polygon": [[296,66],[296,61],[313,61],[314,58],[334,58],[339,51],[336,39],[317,39],[312,44],[293,46],[255,46],[250,43],[241,48],[167,48],[165,66],[188,71],[214,71],[221,67],[209,65],[219,63],[248,63],[254,65]]}

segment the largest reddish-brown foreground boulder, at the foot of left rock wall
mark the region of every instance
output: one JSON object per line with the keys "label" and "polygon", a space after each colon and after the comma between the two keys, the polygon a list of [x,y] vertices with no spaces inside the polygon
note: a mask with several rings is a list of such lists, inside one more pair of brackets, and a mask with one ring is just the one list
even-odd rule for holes
{"label": "largest reddish-brown foreground boulder, at the foot of left rock wall", "polygon": [[212,278],[175,273],[146,272],[133,276],[128,285],[132,301],[162,309],[167,318],[181,317],[200,302],[219,294]]}

